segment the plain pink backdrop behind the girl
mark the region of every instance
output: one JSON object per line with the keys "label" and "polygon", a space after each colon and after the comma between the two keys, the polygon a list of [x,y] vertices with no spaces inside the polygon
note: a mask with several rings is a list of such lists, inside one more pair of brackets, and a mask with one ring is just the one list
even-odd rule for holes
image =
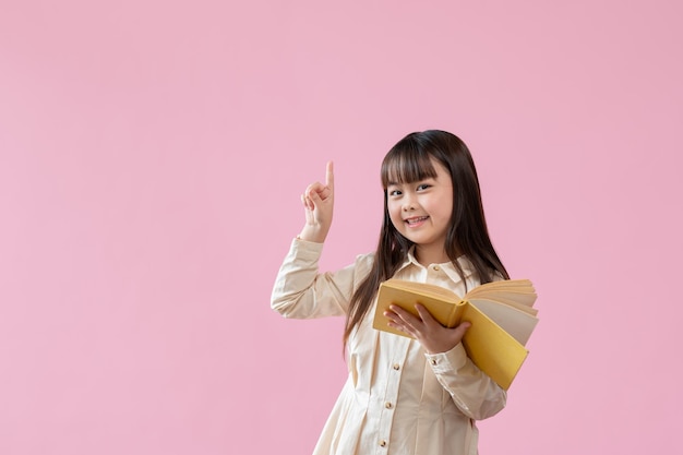
{"label": "plain pink backdrop behind the girl", "polygon": [[0,454],[310,453],[346,366],[340,320],[268,307],[299,194],[335,160],[323,266],[350,263],[430,128],[540,295],[481,453],[681,453],[682,14],[2,0]]}

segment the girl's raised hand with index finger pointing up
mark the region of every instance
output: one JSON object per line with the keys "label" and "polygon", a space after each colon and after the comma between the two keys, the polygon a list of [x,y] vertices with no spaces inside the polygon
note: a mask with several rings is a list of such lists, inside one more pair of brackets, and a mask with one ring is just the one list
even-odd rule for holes
{"label": "girl's raised hand with index finger pointing up", "polygon": [[305,211],[305,225],[299,235],[302,240],[323,243],[332,226],[334,208],[334,172],[332,161],[327,163],[325,184],[311,183],[301,194]]}

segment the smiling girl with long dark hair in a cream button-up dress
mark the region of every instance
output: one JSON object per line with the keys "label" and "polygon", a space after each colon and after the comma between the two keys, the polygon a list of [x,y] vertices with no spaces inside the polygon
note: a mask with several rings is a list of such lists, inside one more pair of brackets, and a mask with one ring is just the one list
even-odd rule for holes
{"label": "smiling girl with long dark hair in a cream button-up dress", "polygon": [[287,318],[346,316],[349,378],[315,455],[472,455],[476,420],[505,406],[506,394],[465,354],[468,328],[439,324],[391,307],[391,325],[372,328],[380,283],[388,278],[466,289],[508,279],[487,230],[479,181],[467,146],[445,131],[408,134],[382,163],[384,223],[378,249],[340,271],[319,273],[334,201],[332,163],[325,184],[301,200],[305,224],[279,270],[272,307]]}

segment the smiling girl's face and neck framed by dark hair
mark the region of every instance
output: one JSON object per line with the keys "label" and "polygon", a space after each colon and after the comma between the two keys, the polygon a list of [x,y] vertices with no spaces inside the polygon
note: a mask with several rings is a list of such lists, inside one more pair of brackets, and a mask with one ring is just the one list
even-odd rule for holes
{"label": "smiling girl's face and neck framed by dark hair", "polygon": [[417,259],[424,265],[448,261],[444,244],[453,213],[451,176],[439,161],[432,158],[431,163],[436,177],[411,183],[390,182],[386,188],[392,224],[417,244]]}

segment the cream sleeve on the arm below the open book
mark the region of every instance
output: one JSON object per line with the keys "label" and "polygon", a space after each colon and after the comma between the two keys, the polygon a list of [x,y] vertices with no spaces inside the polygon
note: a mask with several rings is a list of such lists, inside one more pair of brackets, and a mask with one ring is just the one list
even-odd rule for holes
{"label": "cream sleeve on the arm below the open book", "polygon": [[482,420],[505,407],[507,393],[472,363],[462,344],[426,357],[439,383],[469,418]]}

